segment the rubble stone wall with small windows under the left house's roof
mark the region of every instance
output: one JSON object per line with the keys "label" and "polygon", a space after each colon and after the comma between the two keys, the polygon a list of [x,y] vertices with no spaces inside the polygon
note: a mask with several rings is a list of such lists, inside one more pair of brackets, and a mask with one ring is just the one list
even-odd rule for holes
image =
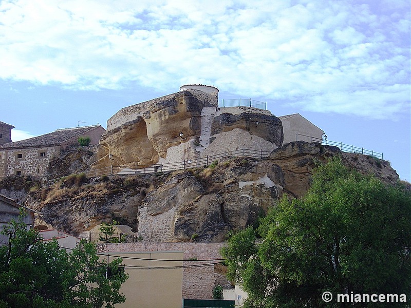
{"label": "rubble stone wall with small windows under the left house's roof", "polygon": [[43,176],[50,160],[59,156],[60,150],[61,146],[1,150],[0,176]]}

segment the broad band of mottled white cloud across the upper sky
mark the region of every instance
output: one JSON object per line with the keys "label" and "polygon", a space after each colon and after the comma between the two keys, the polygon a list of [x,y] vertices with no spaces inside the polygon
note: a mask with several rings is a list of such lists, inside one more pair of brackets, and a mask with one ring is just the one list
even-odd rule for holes
{"label": "broad band of mottled white cloud across the upper sky", "polygon": [[82,90],[132,81],[162,92],[209,83],[302,108],[310,97],[313,111],[396,117],[409,104],[406,8],[384,13],[353,0],[2,1],[0,78]]}

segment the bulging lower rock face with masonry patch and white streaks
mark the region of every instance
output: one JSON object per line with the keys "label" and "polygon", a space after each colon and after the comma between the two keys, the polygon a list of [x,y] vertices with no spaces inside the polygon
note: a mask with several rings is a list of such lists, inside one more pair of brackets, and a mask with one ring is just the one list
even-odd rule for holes
{"label": "bulging lower rock face with masonry patch and white streaks", "polygon": [[281,170],[252,159],[221,162],[203,175],[192,172],[179,173],[146,197],[139,236],[150,241],[223,241],[229,230],[255,223],[283,190]]}

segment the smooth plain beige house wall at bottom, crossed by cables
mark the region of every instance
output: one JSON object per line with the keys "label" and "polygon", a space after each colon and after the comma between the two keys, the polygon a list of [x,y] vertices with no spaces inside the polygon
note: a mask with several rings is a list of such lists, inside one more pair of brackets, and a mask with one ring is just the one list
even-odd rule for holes
{"label": "smooth plain beige house wall at bottom, crossed by cables", "polygon": [[[123,258],[124,271],[129,275],[120,288],[126,301],[116,307],[181,308],[183,255],[183,252],[110,252],[109,256],[100,256],[108,262]],[[176,266],[180,268],[170,268]]]}

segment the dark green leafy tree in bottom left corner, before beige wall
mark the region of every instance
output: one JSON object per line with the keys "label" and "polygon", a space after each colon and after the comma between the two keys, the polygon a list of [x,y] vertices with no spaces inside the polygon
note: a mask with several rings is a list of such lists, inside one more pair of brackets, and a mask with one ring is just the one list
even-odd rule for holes
{"label": "dark green leafy tree in bottom left corner, before beige wall", "polygon": [[95,308],[125,301],[121,259],[100,260],[96,246],[85,241],[69,254],[57,240],[44,242],[26,229],[22,217],[2,232],[8,243],[0,247],[0,307]]}

